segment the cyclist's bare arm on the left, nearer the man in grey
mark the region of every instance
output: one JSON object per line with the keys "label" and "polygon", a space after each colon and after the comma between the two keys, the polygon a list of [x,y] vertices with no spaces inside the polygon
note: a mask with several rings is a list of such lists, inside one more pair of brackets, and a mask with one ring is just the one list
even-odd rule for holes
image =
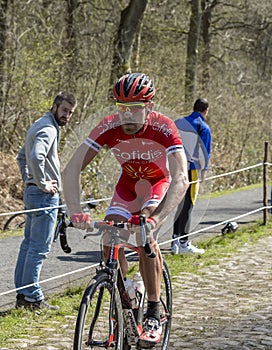
{"label": "cyclist's bare arm on the left, nearer the man in grey", "polygon": [[81,213],[80,173],[97,155],[97,152],[86,144],[81,144],[62,172],[63,194],[69,215]]}

